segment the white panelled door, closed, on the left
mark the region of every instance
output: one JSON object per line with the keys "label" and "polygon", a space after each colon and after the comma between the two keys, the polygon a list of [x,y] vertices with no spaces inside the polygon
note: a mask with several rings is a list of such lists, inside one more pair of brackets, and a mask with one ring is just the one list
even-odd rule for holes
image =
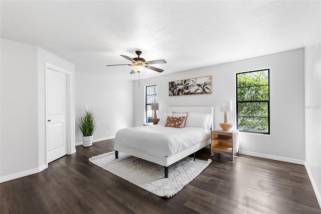
{"label": "white panelled door, closed, on the left", "polygon": [[66,96],[67,76],[46,69],[47,76],[47,163],[67,154]]}

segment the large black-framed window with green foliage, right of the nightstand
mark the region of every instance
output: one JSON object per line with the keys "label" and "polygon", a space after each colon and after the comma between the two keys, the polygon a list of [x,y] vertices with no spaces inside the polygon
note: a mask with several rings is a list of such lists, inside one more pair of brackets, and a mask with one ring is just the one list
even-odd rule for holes
{"label": "large black-framed window with green foliage, right of the nightstand", "polygon": [[236,125],[241,132],[270,134],[269,71],[236,74]]}

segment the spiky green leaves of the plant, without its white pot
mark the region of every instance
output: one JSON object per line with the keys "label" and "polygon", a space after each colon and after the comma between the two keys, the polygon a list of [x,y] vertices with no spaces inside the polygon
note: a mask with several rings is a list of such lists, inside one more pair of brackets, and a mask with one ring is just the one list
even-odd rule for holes
{"label": "spiky green leaves of the plant, without its white pot", "polygon": [[84,137],[92,136],[97,128],[94,113],[86,111],[85,115],[79,118],[78,128]]}

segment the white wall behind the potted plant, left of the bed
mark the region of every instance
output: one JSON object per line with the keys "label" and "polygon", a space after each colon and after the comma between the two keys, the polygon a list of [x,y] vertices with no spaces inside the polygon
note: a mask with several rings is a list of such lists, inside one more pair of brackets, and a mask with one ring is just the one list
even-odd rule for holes
{"label": "white wall behind the potted plant, left of the bed", "polygon": [[[94,142],[115,137],[118,130],[133,126],[133,92],[131,80],[108,77],[107,73],[76,72],[76,123],[90,106],[96,116]],[[109,127],[109,130],[108,130]],[[76,144],[82,144],[76,127]]]}

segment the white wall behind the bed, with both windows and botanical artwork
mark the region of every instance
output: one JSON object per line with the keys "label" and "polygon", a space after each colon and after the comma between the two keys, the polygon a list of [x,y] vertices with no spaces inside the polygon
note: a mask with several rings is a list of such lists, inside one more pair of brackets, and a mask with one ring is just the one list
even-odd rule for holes
{"label": "white wall behind the bed, with both windows and botanical artwork", "polygon": [[[228,121],[236,128],[236,72],[270,68],[270,135],[240,133],[243,154],[304,163],[304,49],[296,49],[134,82],[134,125],[144,120],[144,86],[157,85],[160,117],[167,106],[214,106],[214,126],[224,120],[220,100],[232,100]],[[145,72],[148,72],[146,70]],[[150,71],[152,72],[152,71]],[[166,71],[164,71],[166,72]],[[169,96],[169,81],[212,76],[212,94]]]}

